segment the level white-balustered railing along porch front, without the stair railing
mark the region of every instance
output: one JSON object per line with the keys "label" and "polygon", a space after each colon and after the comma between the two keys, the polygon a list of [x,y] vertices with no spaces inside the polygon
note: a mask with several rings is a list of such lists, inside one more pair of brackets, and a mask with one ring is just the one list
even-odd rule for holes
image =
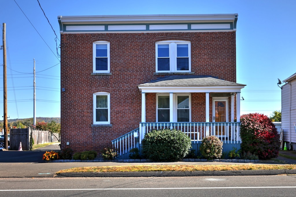
{"label": "level white-balustered railing along porch front, without the stair railing", "polygon": [[140,144],[144,135],[153,129],[177,129],[186,133],[192,143],[198,143],[207,135],[215,135],[224,143],[239,143],[240,122],[141,122]]}

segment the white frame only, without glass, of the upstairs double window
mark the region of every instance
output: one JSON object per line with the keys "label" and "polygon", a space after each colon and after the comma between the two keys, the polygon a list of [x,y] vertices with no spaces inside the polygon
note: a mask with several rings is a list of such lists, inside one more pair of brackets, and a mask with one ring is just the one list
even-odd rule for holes
{"label": "white frame only, without glass, of the upstairs double window", "polygon": [[[170,58],[170,70],[158,70],[158,45],[169,44],[169,58]],[[189,58],[189,70],[177,70],[177,45],[178,44],[188,44],[188,58]],[[160,41],[155,43],[155,57],[156,57],[156,72],[157,73],[168,73],[168,72],[178,72],[178,73],[185,73],[191,72],[191,43],[189,41],[183,40],[166,40]]]}

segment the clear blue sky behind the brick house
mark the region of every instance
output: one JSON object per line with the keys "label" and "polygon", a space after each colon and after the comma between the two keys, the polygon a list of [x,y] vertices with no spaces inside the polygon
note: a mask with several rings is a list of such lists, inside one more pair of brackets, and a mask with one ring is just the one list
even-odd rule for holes
{"label": "clear blue sky behind the brick house", "polygon": [[[281,110],[277,78],[296,73],[296,1],[293,0],[39,0],[57,35],[57,16],[120,14],[234,14],[237,21],[237,83],[241,115],[270,116]],[[6,23],[7,96],[10,119],[33,117],[33,58],[36,61],[36,116],[60,117],[60,64],[55,34],[37,0],[1,0]],[[2,33],[0,35],[2,40]],[[2,45],[2,42],[0,43]],[[0,53],[3,65],[3,50]],[[71,73],[69,73],[71,74]],[[0,67],[3,112],[3,66]],[[3,113],[2,113],[3,114]],[[3,116],[3,115],[2,115]]]}

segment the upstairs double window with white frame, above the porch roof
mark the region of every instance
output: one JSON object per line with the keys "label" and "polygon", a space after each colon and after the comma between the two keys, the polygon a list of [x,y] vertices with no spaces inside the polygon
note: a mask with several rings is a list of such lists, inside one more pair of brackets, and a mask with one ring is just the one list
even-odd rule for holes
{"label": "upstairs double window with white frame, above the porch roof", "polygon": [[190,72],[190,42],[156,43],[156,72]]}

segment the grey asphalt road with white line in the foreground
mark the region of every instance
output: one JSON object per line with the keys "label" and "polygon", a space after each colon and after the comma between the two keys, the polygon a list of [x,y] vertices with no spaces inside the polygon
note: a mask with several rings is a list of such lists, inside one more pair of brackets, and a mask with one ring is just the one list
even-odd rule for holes
{"label": "grey asphalt road with white line in the foreground", "polygon": [[1,179],[1,196],[295,196],[296,175]]}

